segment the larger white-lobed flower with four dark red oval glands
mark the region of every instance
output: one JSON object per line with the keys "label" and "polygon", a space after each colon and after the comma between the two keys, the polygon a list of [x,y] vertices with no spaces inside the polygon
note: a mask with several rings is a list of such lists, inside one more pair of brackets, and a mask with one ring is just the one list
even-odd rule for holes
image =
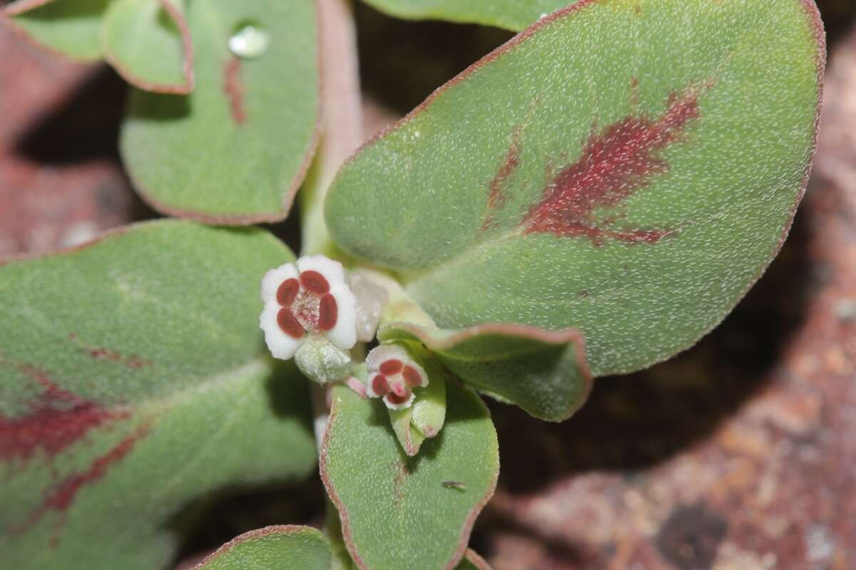
{"label": "larger white-lobed flower with four dark red oval glands", "polygon": [[341,350],[357,342],[356,300],[338,261],[306,256],[271,269],[262,301],[259,326],[275,358],[288,360],[307,338],[323,336]]}

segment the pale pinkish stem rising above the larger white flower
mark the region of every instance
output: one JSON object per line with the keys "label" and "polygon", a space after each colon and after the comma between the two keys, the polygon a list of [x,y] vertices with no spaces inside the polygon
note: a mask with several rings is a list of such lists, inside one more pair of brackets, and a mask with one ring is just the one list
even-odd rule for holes
{"label": "pale pinkish stem rising above the larger white flower", "polygon": [[363,141],[356,30],[350,0],[317,0],[320,20],[322,136],[300,193],[303,255],[342,257],[324,223],[324,197],[342,162]]}

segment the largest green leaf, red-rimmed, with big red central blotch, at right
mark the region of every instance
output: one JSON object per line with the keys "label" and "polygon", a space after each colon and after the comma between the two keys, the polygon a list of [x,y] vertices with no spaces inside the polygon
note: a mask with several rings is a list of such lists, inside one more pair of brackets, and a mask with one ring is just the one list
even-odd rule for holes
{"label": "largest green leaf, red-rimmed, with big red central blotch, at right", "polygon": [[326,203],[342,249],[436,321],[578,328],[592,373],[686,349],[764,272],[805,190],[811,0],[586,0],[366,145]]}

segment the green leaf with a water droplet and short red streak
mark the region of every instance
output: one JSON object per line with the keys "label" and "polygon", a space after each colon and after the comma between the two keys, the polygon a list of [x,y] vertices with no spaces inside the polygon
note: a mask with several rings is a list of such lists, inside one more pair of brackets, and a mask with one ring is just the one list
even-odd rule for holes
{"label": "green leaf with a water droplet and short red streak", "polygon": [[[318,46],[312,0],[193,0],[196,87],[187,97],[134,90],[122,158],[161,212],[218,224],[282,220],[318,131]],[[229,38],[247,25],[270,38],[241,59]]]}

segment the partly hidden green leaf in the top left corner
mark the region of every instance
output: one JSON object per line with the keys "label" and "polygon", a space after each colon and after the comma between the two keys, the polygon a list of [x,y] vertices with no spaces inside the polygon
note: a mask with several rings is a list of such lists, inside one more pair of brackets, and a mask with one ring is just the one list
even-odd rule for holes
{"label": "partly hidden green leaf in the top left corner", "polygon": [[111,0],[18,0],[3,9],[39,44],[80,60],[102,56],[101,22]]}

